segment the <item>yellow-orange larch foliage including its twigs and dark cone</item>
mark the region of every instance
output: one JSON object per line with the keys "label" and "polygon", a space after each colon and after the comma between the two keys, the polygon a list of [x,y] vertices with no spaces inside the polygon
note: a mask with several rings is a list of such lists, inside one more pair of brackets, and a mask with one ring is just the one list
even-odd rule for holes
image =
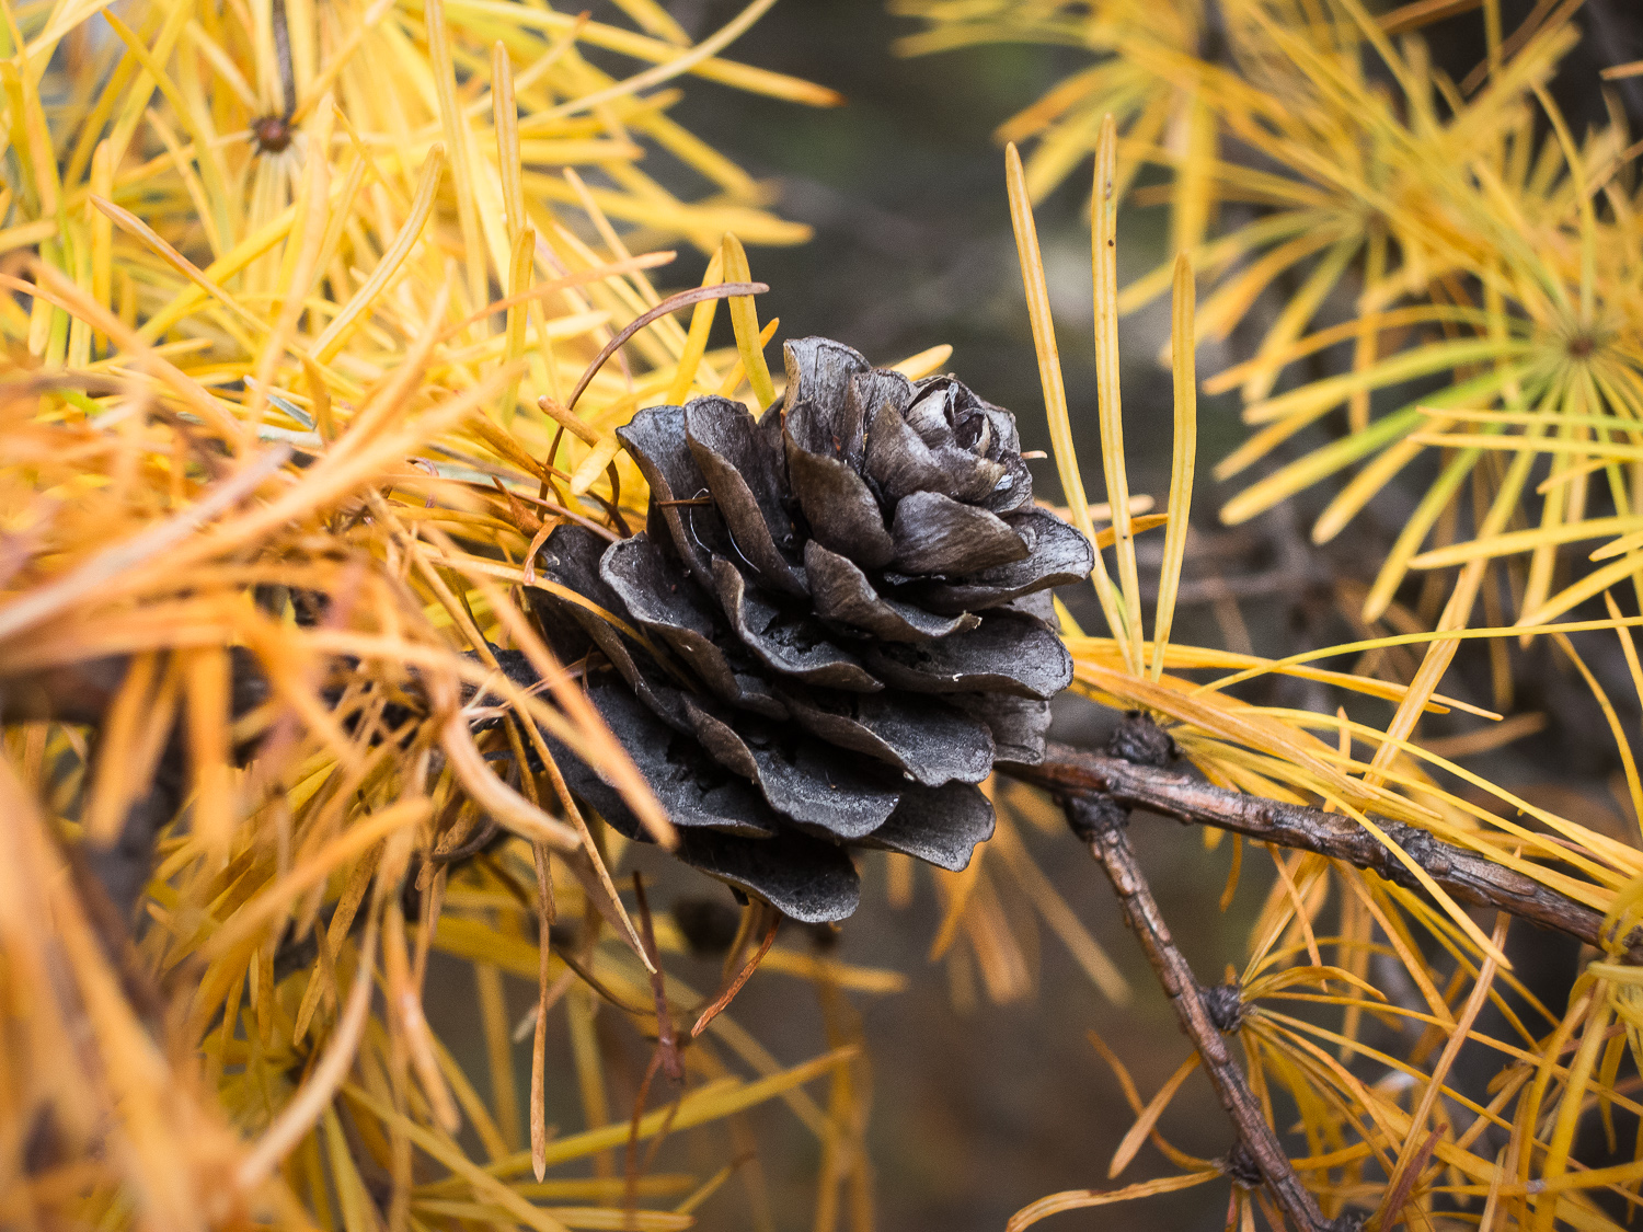
{"label": "yellow-orange larch foliage including its twigs and dark cone", "polygon": [[[1099,864],[1185,1038],[1144,1097],[1091,1037],[1135,1119],[1012,1229],[1198,1186],[1240,1232],[1623,1227],[1643,264],[1623,113],[1576,140],[1553,103],[1581,0],[1520,28],[1497,0],[895,0],[923,20],[907,51],[1093,53],[1007,125],[1035,145],[1001,186],[1058,509],[948,348],[792,338],[772,375],[743,241],[807,233],[669,118],[698,77],[840,102],[725,57],[771,3],[700,41],[656,0],[0,3],[0,1224],[674,1232],[739,1193],[762,1227],[741,1114],[779,1102],[818,1145],[815,1227],[868,1229],[848,995],[923,976],[779,925],[863,884],[905,902],[912,856],[955,987],[1025,995],[1042,925],[1117,1005],[1153,995],[1038,867],[1050,844]],[[1423,30],[1472,10],[1454,80]],[[1033,200],[1091,154],[1081,467]],[[1175,260],[1121,292],[1142,169]],[[710,255],[700,286],[657,289],[664,245]],[[1148,514],[1117,319],[1167,291]],[[1436,462],[1341,605],[1362,637],[1283,657],[1175,636],[1198,343],[1247,337],[1257,302],[1203,388],[1255,427],[1222,475],[1283,460],[1229,521],[1334,483],[1324,542]],[[1469,764],[1535,728],[1508,713],[1520,644],[1594,698],[1625,820]],[[1474,649],[1507,664],[1493,698],[1451,672]],[[1048,738],[1063,692],[1109,742]],[[1226,853],[1222,910],[1245,861],[1272,869],[1224,979],[1130,841],[1158,815]],[[743,908],[652,910],[637,843]],[[1513,968],[1528,928],[1579,943],[1566,995]],[[687,949],[723,956],[716,986],[679,976]],[[430,1027],[434,954],[480,1038]],[[813,986],[825,1050],[777,1060],[739,1025],[756,969]],[[649,1058],[626,1107],[614,1032]],[[1196,1071],[1216,1158],[1160,1129]],[[582,1124],[549,1125],[550,1084]]]}

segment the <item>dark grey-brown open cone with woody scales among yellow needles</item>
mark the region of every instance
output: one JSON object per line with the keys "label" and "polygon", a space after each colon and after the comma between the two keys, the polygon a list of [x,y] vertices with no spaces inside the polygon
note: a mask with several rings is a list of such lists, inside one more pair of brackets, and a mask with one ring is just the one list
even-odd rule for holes
{"label": "dark grey-brown open cone with woody scales among yellow needles", "polygon": [[[539,573],[614,621],[532,595],[567,662],[596,652],[588,695],[677,854],[817,923],[856,908],[846,846],[956,871],[992,833],[976,784],[1043,756],[1073,677],[1048,588],[1094,555],[1033,506],[1009,411],[825,338],[785,356],[759,419],[698,398],[618,432],[651,485],[646,532],[547,539]],[[560,764],[642,838],[593,770]]]}

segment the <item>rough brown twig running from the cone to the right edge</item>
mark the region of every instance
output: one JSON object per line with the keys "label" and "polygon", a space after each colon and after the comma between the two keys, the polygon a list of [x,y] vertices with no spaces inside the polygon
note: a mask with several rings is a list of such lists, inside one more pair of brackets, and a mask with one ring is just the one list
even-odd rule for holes
{"label": "rough brown twig running from the cone to the right edge", "polygon": [[[1410,871],[1352,818],[1321,808],[1244,795],[1191,779],[1176,770],[1106,757],[1065,744],[1052,744],[1038,765],[1009,770],[1024,782],[1060,797],[1107,797],[1125,808],[1196,821],[1236,834],[1311,851],[1370,869],[1387,880],[1418,887]],[[1489,856],[1444,843],[1431,833],[1380,820],[1382,830],[1447,890],[1474,907],[1493,907],[1541,928],[1554,928],[1587,945],[1605,948],[1604,917],[1567,895],[1541,885]],[[1628,938],[1625,959],[1643,964],[1643,938]]]}

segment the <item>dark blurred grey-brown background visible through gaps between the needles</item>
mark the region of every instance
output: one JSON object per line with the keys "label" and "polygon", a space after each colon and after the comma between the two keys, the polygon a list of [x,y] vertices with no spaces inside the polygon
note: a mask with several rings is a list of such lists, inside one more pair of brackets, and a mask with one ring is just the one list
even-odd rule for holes
{"label": "dark blurred grey-brown background visible through gaps between the needles", "polygon": [[[1505,3],[1507,28],[1530,7],[1530,0]],[[743,5],[674,0],[667,8],[693,38],[702,38]],[[1558,82],[1559,102],[1576,128],[1604,107],[1592,89],[1597,69],[1643,56],[1638,10],[1643,5],[1635,0],[1587,5],[1585,43],[1569,57]],[[611,11],[595,16],[619,21]],[[1464,72],[1475,59],[1479,25],[1477,13],[1462,13],[1428,28],[1434,59]],[[751,253],[754,278],[771,284],[759,301],[759,315],[780,317],[779,338],[833,337],[876,363],[951,343],[950,368],[984,398],[1017,412],[1025,447],[1047,448],[1009,225],[1004,154],[992,131],[1088,57],[1076,49],[1045,46],[983,46],[897,57],[895,39],[914,28],[891,16],[879,0],[780,0],[731,54],[830,85],[848,105],[808,110],[698,82],[674,118],[766,181],[779,212],[815,232],[807,245]],[[1627,87],[1617,97],[1633,123],[1643,120],[1635,89]],[[1038,228],[1073,422],[1075,429],[1083,425],[1078,444],[1086,481],[1091,499],[1102,499],[1094,437],[1088,176],[1086,161],[1081,172],[1038,207]],[[1121,212],[1121,286],[1170,256],[1162,210]],[[672,287],[690,286],[703,268],[703,256],[687,251],[664,281]],[[1349,307],[1341,306],[1341,314]],[[1259,332],[1270,310],[1267,317],[1257,310],[1249,327]],[[1134,491],[1155,494],[1160,504],[1170,465],[1170,378],[1157,356],[1167,333],[1168,306],[1162,302],[1121,324],[1130,483]],[[1231,363],[1239,337],[1226,348],[1206,347],[1198,356],[1199,375]],[[720,342],[728,340],[726,330]],[[1303,532],[1328,491],[1300,498],[1300,508],[1222,531],[1214,514],[1236,488],[1216,485],[1208,468],[1242,440],[1244,429],[1234,398],[1201,399],[1199,416],[1198,536],[1178,637],[1288,654],[1360,636],[1342,616],[1339,595],[1342,586],[1374,575],[1410,501],[1395,490],[1385,493],[1328,552],[1313,549]],[[1316,440],[1303,435],[1295,444],[1303,448]],[[1035,470],[1040,494],[1060,499],[1053,463],[1038,463]],[[1229,585],[1217,586],[1217,578]],[[1086,627],[1099,629],[1084,588],[1070,588],[1063,598]],[[1530,705],[1539,703],[1556,721],[1512,746],[1510,756],[1479,769],[1497,782],[1543,792],[1548,803],[1556,800],[1561,811],[1581,813],[1589,825],[1600,816],[1620,825],[1623,818],[1615,813],[1607,787],[1617,770],[1612,744],[1585,692],[1533,655],[1520,660],[1516,670]],[[1334,706],[1301,683],[1275,688],[1291,688],[1293,705]],[[1462,657],[1446,692],[1485,703],[1487,662]],[[1627,721],[1635,729],[1635,715],[1627,715]],[[1094,742],[1112,716],[1068,701],[1058,723],[1063,739]],[[1441,733],[1441,726],[1434,731]],[[1142,1099],[1150,1099],[1190,1053],[1096,866],[1065,831],[1055,833],[1053,826],[1022,831],[1038,867],[1111,954],[1134,997],[1117,1005],[1101,995],[1066,946],[1030,920],[1012,922],[1024,964],[1015,986],[1004,989],[1002,997],[989,995],[989,986],[978,984],[974,971],[966,977],[951,963],[928,961],[941,905],[927,876],[917,876],[910,905],[892,908],[884,866],[869,861],[863,908],[845,926],[835,953],[861,966],[905,972],[909,979],[907,989],[895,995],[851,997],[871,1058],[868,1143],[877,1170],[872,1201],[882,1229],[1001,1229],[1014,1211],[1043,1194],[1107,1186],[1107,1161],[1134,1115],[1086,1032],[1099,1032],[1124,1058]],[[1231,844],[1208,851],[1201,833],[1157,818],[1137,818],[1135,839],[1194,971],[1206,984],[1219,981],[1227,964],[1242,959],[1240,940],[1272,882],[1270,861],[1250,853],[1239,894],[1227,915],[1221,915],[1216,900],[1227,877]],[[659,907],[679,895],[713,892],[652,854],[637,853],[634,862],[654,879],[652,902]],[[1009,897],[1002,902],[1004,910],[1012,910]],[[803,949],[807,938],[784,935],[784,945]],[[1572,948],[1528,930],[1518,931],[1516,945],[1521,953],[1513,958],[1531,987],[1548,1002],[1561,1004]],[[700,987],[711,986],[718,974],[711,959],[685,961],[679,971]],[[518,984],[511,994],[518,999],[513,1009],[524,1014],[534,989]],[[815,994],[805,982],[767,971],[734,1005],[738,1022],[784,1064],[828,1045],[820,1009],[795,1014],[795,999],[813,1000]],[[430,997],[429,1015],[444,1038],[475,1038],[462,1028],[470,1014],[472,1005],[460,995],[444,1005]],[[624,1117],[649,1046],[631,1038],[624,1025],[606,1022],[614,1017],[598,1018],[600,1046],[608,1071],[618,1078],[608,1092],[611,1107],[616,1117]],[[795,1027],[805,1022],[808,1027]],[[562,1018],[555,1017],[555,1023],[562,1032]],[[567,1050],[568,1041],[550,1038],[549,1056],[565,1056]],[[521,1073],[529,1069],[524,1056],[521,1045]],[[626,1091],[619,1089],[623,1074],[629,1078]],[[557,1086],[549,1089],[549,1122],[555,1119],[567,1127],[582,1120],[568,1073],[557,1076]],[[756,1183],[767,1189],[775,1227],[810,1227],[817,1196],[808,1178],[817,1173],[817,1140],[779,1102],[749,1114],[748,1125],[759,1155]],[[1199,1156],[1219,1156],[1231,1145],[1226,1117],[1198,1074],[1188,1079],[1160,1129]],[[670,1143],[659,1168],[667,1168],[670,1152],[688,1155],[688,1145]],[[1145,1147],[1121,1183],[1173,1171],[1157,1150]],[[734,1188],[726,1186],[702,1209],[702,1225],[754,1225],[748,1202],[731,1193]],[[1221,1181],[1121,1207],[1056,1216],[1053,1222],[1066,1232],[1219,1229],[1226,1209],[1227,1184]]]}

